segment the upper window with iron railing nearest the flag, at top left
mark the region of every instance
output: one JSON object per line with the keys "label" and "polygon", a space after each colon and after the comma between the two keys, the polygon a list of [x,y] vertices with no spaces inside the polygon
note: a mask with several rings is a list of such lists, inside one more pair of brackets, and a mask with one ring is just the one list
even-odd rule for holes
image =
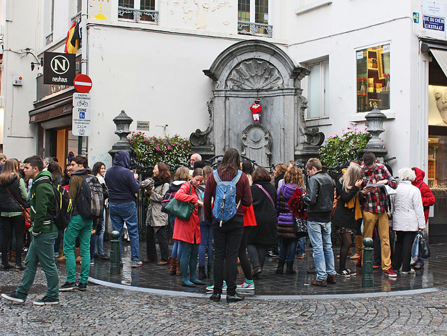
{"label": "upper window with iron railing nearest the flag, at top left", "polygon": [[118,19],[159,23],[155,0],[118,0]]}

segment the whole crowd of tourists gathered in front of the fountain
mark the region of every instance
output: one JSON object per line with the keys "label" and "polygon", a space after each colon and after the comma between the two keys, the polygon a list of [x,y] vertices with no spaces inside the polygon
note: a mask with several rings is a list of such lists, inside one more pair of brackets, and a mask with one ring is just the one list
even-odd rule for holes
{"label": "whole crowd of tourists gathered in front of the fountain", "polygon": [[[238,302],[244,298],[237,290],[254,290],[256,279],[263,276],[266,255],[274,254],[272,248],[278,249],[275,272],[294,275],[295,258],[304,258],[307,238],[315,265],[314,286],[356,275],[346,267],[353,237],[356,251],[350,258],[358,259],[357,266],[362,265],[363,238],[373,238],[373,267],[386,276],[423,268],[423,258],[416,258],[417,263],[411,258],[411,247],[434,204],[423,182],[424,172],[402,168],[395,179],[391,168],[370,152],[362,161],[351,161],[335,179],[316,158],[307,161],[305,172],[295,161],[277,164],[272,176],[264,167],[254,169],[251,161],[241,162],[233,148],[226,150],[215,170],[195,153],[190,166],[177,168],[173,177],[160,162],[146,180],[130,170],[129,153],[123,151],[115,154],[107,172],[102,162],[90,169],[87,158],[80,155],[68,156],[64,172],[50,157],[30,156],[21,162],[0,154],[0,160],[0,270],[23,272],[16,291],[1,297],[15,302],[27,298],[38,263],[47,277],[47,293],[35,305],[59,303],[59,291],[87,290],[90,266],[109,260],[103,249],[106,207],[113,230],[120,233],[120,251],[124,236],[129,238],[132,268],[157,263],[170,275],[181,276],[186,287],[203,286],[202,280],[213,274],[214,285],[206,289],[215,302],[223,292],[228,302]],[[142,260],[136,207],[140,189],[149,198],[147,256]],[[64,197],[69,205],[64,205]],[[71,217],[61,225],[64,210]],[[332,231],[341,238],[337,269]],[[236,283],[238,261],[242,284]],[[67,275],[59,285],[56,263],[64,262]],[[76,263],[81,265],[78,282]]]}

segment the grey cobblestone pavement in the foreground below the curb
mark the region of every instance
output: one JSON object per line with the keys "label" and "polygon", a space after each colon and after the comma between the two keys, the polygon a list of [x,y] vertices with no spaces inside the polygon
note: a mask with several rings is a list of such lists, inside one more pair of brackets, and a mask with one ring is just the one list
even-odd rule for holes
{"label": "grey cobblestone pavement in the foreground below the curb", "polygon": [[[60,281],[64,269],[60,269]],[[21,273],[0,272],[0,292]],[[447,291],[353,298],[228,304],[207,296],[156,295],[90,284],[61,293],[60,304],[35,306],[45,293],[38,271],[24,305],[0,300],[0,335],[447,335]],[[374,294],[371,294],[374,295]]]}

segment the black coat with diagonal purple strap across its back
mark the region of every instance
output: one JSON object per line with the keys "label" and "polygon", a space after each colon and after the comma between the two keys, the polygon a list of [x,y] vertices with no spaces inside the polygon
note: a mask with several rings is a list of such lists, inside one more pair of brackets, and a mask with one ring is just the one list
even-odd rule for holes
{"label": "black coat with diagonal purple strap across its back", "polygon": [[249,227],[247,244],[277,244],[277,210],[270,198],[256,184],[260,184],[269,193],[275,204],[277,202],[277,192],[273,184],[266,181],[253,182],[250,189],[257,225]]}

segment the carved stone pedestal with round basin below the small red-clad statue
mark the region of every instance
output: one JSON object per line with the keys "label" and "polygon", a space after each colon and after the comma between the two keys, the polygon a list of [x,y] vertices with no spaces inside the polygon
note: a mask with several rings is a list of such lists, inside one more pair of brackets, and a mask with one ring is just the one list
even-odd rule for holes
{"label": "carved stone pedestal with round basin below the small red-clad statue", "polygon": [[256,161],[259,166],[270,166],[272,137],[268,129],[260,123],[247,126],[242,131],[242,155]]}

